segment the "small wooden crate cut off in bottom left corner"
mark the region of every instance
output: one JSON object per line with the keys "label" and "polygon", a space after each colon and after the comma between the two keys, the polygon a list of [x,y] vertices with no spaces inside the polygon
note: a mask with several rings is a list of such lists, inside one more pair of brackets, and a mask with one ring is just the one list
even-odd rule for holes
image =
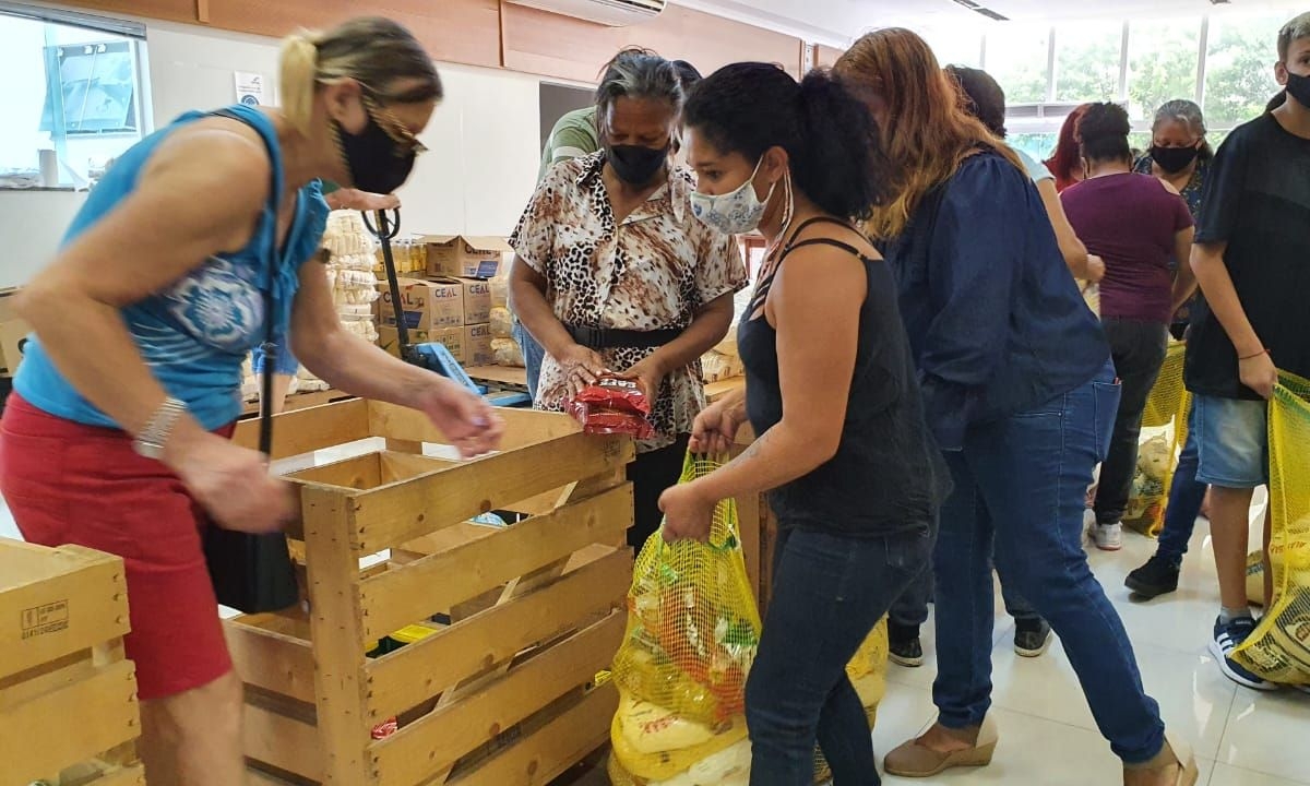
{"label": "small wooden crate cut off in bottom left corner", "polygon": [[144,786],[118,557],[0,538],[0,783]]}

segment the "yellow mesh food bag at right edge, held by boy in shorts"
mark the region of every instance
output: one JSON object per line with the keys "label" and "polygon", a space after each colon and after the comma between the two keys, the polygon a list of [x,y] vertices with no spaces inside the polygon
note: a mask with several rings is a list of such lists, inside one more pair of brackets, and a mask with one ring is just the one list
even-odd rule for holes
{"label": "yellow mesh food bag at right edge, held by boy in shorts", "polygon": [[1273,597],[1233,658],[1271,683],[1310,685],[1310,381],[1282,373],[1269,400]]}

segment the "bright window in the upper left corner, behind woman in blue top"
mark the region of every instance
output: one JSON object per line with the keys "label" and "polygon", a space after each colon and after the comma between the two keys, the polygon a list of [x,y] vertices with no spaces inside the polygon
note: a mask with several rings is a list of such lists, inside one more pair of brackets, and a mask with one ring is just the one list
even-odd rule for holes
{"label": "bright window in the upper left corner, behind woman in blue top", "polygon": [[85,187],[149,131],[144,28],[0,1],[0,186],[35,186],[41,151],[58,185]]}

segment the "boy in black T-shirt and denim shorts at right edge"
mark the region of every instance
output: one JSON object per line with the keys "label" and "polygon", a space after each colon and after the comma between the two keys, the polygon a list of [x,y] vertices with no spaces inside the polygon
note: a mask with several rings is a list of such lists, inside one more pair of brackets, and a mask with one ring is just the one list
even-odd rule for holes
{"label": "boy in black T-shirt and denim shorts at right edge", "polygon": [[[1268,482],[1267,411],[1277,369],[1310,376],[1310,13],[1279,33],[1286,103],[1237,130],[1210,169],[1192,269],[1205,295],[1187,342],[1200,466],[1222,608],[1210,652],[1224,673],[1275,685],[1229,655],[1255,629],[1246,595],[1251,493]],[[1268,523],[1265,523],[1268,527]]]}

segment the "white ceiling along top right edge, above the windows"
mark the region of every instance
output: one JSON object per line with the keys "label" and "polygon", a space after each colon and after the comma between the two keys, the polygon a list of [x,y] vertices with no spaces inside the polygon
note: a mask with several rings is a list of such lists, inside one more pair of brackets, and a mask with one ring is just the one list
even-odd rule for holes
{"label": "white ceiling along top right edge, above the windows", "polygon": [[[718,16],[753,22],[819,43],[844,45],[871,28],[979,28],[996,22],[962,8],[954,0],[673,0]],[[1289,18],[1305,10],[1305,0],[973,0],[1006,16],[1013,24],[1089,18],[1142,18],[1207,13],[1285,10]],[[1144,10],[1146,7],[1149,10]]]}

